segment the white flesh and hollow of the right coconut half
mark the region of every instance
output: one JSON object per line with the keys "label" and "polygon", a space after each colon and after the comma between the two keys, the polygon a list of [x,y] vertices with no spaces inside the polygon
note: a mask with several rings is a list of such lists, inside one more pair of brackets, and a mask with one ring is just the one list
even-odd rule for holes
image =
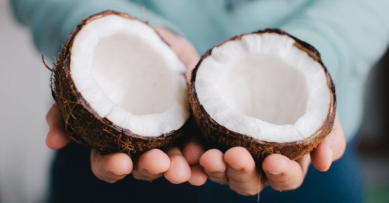
{"label": "white flesh and hollow of the right coconut half", "polygon": [[325,121],[330,90],[322,66],[276,33],[244,35],[214,47],[195,88],[210,117],[269,142],[301,140]]}

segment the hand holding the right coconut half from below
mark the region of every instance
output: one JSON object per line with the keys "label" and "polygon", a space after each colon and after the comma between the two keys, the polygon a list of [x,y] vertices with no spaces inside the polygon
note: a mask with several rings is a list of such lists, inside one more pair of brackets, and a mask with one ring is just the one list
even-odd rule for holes
{"label": "hand holding the right coconut half from below", "polygon": [[268,156],[262,163],[265,177],[260,178],[254,159],[243,147],[230,148],[225,154],[218,149],[210,149],[200,157],[200,165],[212,181],[229,184],[239,194],[254,195],[266,185],[285,191],[301,185],[311,161],[317,170],[327,171],[331,163],[343,155],[345,146],[342,126],[336,116],[331,133],[310,155],[297,161],[279,154]]}

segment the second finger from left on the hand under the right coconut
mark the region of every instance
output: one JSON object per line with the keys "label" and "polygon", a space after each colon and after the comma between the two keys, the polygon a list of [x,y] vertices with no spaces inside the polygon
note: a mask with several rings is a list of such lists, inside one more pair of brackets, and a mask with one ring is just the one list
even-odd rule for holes
{"label": "second finger from left on the hand under the right coconut", "polygon": [[259,173],[254,159],[243,147],[232,147],[224,154],[229,187],[242,195],[258,193]]}

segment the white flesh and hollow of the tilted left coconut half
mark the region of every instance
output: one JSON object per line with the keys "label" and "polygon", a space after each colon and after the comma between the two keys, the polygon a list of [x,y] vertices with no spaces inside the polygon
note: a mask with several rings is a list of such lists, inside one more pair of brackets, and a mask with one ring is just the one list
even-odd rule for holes
{"label": "white flesh and hollow of the tilted left coconut half", "polygon": [[107,15],[86,24],[72,48],[70,74],[102,118],[145,136],[188,119],[185,67],[148,25]]}

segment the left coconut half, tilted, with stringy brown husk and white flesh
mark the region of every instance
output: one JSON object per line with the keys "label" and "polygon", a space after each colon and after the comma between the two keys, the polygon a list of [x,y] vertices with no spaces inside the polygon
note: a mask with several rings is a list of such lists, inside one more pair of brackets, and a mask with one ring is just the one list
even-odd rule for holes
{"label": "left coconut half, tilted, with stringy brown husk and white flesh", "polygon": [[66,131],[101,153],[141,153],[186,132],[185,67],[153,28],[127,14],[83,20],[53,73]]}

